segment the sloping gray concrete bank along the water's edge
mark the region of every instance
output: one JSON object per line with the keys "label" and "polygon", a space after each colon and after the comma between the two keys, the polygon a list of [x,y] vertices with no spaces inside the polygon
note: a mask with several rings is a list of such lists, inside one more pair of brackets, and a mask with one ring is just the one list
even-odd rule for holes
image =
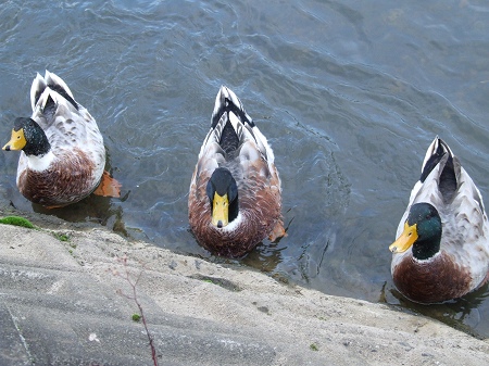
{"label": "sloping gray concrete bank along the water's edge", "polygon": [[0,365],[152,365],[126,275],[160,365],[489,364],[487,340],[423,316],[45,218],[0,225]]}

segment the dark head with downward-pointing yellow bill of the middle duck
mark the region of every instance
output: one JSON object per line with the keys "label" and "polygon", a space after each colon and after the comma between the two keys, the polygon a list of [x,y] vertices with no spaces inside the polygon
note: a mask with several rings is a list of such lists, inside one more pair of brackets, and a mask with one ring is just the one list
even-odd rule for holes
{"label": "dark head with downward-pointing yellow bill of the middle duck", "polygon": [[214,226],[223,228],[238,216],[238,186],[228,169],[218,167],[214,171],[206,193]]}

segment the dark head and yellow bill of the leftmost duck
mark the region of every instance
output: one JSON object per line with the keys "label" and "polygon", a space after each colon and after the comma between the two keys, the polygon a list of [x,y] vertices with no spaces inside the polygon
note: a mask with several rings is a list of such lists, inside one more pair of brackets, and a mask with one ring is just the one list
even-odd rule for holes
{"label": "dark head and yellow bill of the leftmost duck", "polygon": [[24,150],[27,155],[40,156],[50,148],[42,128],[32,118],[20,117],[15,119],[12,137],[2,150]]}

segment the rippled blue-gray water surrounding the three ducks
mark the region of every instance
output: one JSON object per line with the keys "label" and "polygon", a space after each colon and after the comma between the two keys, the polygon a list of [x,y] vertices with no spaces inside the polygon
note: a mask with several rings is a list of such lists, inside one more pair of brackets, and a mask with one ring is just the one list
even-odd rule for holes
{"label": "rippled blue-gray water surrounding the three ducks", "polygon": [[[36,72],[60,75],[97,118],[123,199],[49,212],[213,261],[188,231],[187,193],[221,85],[271,141],[288,237],[241,261],[325,293],[387,301],[489,337],[489,291],[419,306],[388,245],[436,135],[489,204],[489,7],[403,1],[7,1],[0,136],[30,114]],[[17,154],[0,154],[1,200]]]}

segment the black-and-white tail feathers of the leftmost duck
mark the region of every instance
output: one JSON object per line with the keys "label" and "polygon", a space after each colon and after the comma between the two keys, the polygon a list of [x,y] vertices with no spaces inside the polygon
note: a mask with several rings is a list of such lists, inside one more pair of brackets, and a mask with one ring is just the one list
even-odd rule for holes
{"label": "black-and-white tail feathers of the leftmost duck", "polygon": [[37,74],[30,87],[30,106],[33,111],[36,111],[36,108],[40,108],[43,111],[51,104],[55,105],[62,100],[67,101],[76,110],[79,110],[72,91],[61,77],[48,71],[46,71],[45,77]]}

